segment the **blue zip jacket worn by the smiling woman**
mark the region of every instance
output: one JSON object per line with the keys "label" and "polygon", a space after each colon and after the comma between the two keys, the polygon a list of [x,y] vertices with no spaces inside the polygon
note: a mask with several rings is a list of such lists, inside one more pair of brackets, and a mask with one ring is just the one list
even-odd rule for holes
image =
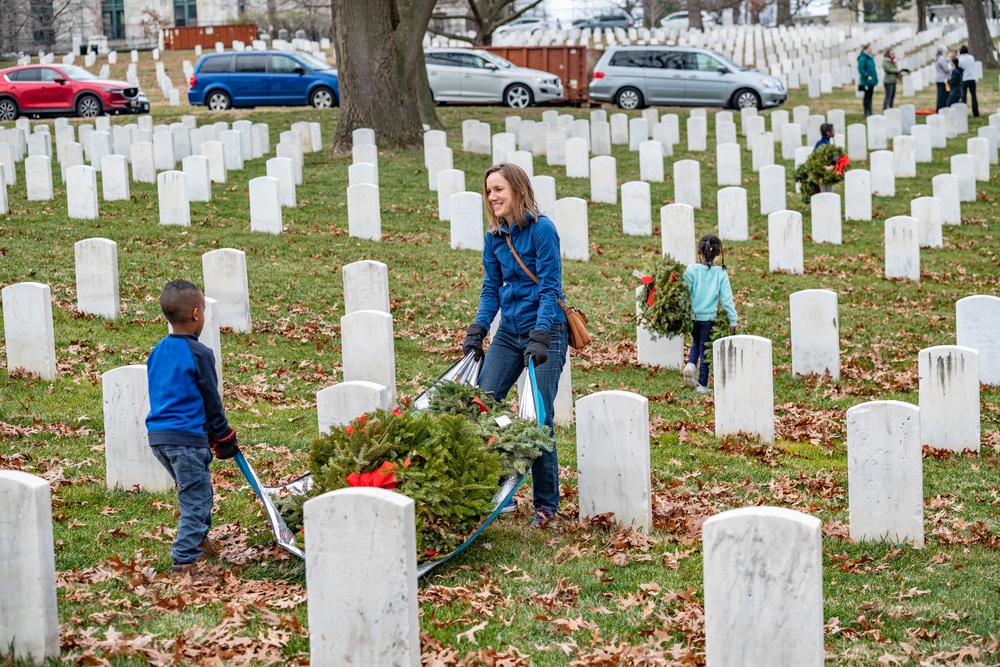
{"label": "blue zip jacket worn by the smiling woman", "polygon": [[[521,261],[538,278],[528,277],[507,247],[510,238]],[[562,292],[562,256],[555,224],[544,215],[526,226],[501,225],[498,234],[486,233],[483,243],[483,288],[476,324],[490,328],[497,311],[500,328],[524,334],[548,331],[566,321],[558,304]]]}

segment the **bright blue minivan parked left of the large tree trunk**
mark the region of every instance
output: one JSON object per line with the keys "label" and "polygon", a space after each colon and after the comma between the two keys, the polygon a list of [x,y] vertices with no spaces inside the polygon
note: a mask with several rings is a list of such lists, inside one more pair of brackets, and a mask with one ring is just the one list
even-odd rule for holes
{"label": "bright blue minivan parked left of the large tree trunk", "polygon": [[340,103],[337,70],[308,53],[210,53],[195,65],[188,102],[213,111],[304,104],[328,109]]}

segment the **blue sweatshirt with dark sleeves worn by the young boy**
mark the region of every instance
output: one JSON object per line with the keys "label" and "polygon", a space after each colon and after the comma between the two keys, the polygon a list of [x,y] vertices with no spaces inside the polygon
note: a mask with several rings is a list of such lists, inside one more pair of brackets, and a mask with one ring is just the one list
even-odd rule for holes
{"label": "blue sweatshirt with dark sleeves worn by the young boy", "polygon": [[208,447],[229,434],[219,396],[215,355],[194,334],[170,334],[146,361],[150,445]]}

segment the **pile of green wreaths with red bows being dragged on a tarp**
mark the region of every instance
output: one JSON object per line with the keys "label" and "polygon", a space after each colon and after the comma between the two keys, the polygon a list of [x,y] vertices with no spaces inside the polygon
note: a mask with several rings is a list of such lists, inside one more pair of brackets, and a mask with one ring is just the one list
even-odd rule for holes
{"label": "pile of green wreaths with red bows being dragged on a tarp", "polygon": [[467,384],[435,386],[427,410],[376,410],[313,442],[306,494],[275,500],[304,548],[302,505],[348,486],[391,489],[413,499],[417,559],[462,544],[493,511],[501,479],[521,476],[552,444],[537,422]]}

